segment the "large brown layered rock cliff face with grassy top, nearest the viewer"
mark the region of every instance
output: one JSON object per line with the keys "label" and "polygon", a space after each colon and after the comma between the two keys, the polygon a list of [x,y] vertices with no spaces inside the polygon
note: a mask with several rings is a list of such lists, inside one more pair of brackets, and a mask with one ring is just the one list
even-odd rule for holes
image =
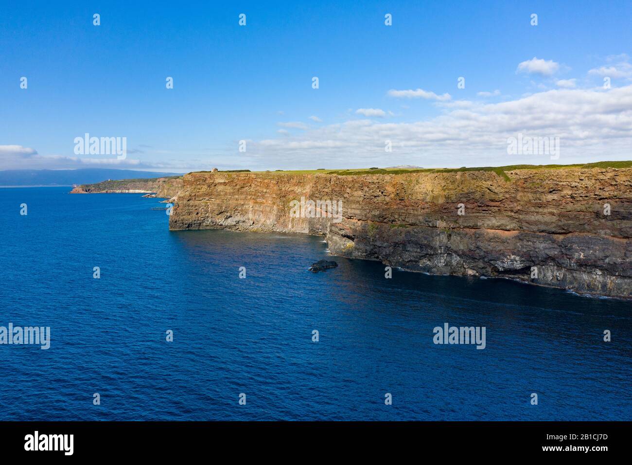
{"label": "large brown layered rock cliff face with grassy top, nearest the viewer", "polygon": [[[632,168],[507,175],[190,173],[169,228],[322,234],[332,254],[405,270],[632,297]],[[322,218],[323,201],[341,212]]]}

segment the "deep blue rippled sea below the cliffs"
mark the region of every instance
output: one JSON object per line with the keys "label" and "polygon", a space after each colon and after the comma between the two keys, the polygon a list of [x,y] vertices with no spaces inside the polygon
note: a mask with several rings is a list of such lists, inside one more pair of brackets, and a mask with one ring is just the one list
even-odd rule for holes
{"label": "deep blue rippled sea below the cliffs", "polygon": [[[68,190],[0,189],[0,326],[52,334],[0,345],[0,420],[632,419],[629,302],[341,258],[315,275],[320,237],[169,232],[156,199]],[[433,344],[446,322],[487,347]]]}

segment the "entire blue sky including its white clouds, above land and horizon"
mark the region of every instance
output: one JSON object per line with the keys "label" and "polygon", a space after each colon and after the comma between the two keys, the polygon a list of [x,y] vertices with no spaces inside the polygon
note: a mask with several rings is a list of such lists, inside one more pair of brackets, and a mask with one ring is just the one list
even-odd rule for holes
{"label": "entire blue sky including its white clouds, above land and horizon", "polygon": [[[0,169],[632,159],[631,25],[630,1],[5,2]],[[86,132],[126,159],[76,155]],[[507,154],[518,133],[559,160]]]}

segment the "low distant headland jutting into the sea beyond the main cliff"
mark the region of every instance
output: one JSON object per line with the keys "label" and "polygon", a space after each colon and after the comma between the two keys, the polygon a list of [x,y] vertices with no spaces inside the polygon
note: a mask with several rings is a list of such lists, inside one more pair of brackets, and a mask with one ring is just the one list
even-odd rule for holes
{"label": "low distant headland jutting into the sea beyond the main cliff", "polygon": [[70,194],[156,194],[171,199],[183,187],[182,177],[107,180],[75,187]]}

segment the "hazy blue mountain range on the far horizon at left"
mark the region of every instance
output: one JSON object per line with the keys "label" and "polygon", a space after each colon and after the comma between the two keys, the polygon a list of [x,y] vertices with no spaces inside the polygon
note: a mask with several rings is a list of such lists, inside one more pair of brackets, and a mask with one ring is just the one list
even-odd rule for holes
{"label": "hazy blue mountain range on the far horizon at left", "polygon": [[0,171],[0,186],[94,184],[107,181],[108,179],[161,178],[178,175],[181,175],[181,173],[113,170],[109,168],[85,168],[80,170],[3,170]]}

